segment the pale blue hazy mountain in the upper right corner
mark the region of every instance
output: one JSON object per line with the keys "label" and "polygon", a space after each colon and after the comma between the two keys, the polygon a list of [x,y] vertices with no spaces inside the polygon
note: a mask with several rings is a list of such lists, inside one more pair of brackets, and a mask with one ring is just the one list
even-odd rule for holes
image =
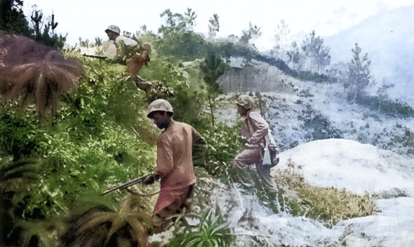
{"label": "pale blue hazy mountain in the upper right corner", "polygon": [[331,65],[350,62],[355,43],[368,53],[371,74],[380,85],[383,77],[396,84],[389,91],[414,105],[414,5],[396,8],[363,20],[334,36],[323,37],[330,47]]}

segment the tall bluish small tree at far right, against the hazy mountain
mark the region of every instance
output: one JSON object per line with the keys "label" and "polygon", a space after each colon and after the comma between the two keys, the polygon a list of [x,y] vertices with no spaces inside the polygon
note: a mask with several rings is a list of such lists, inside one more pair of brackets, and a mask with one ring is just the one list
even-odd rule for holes
{"label": "tall bluish small tree at far right, against the hazy mountain", "polygon": [[368,53],[361,57],[362,49],[358,46],[358,43],[351,51],[354,53],[354,59],[349,64],[349,76],[345,88],[348,91],[347,101],[354,104],[356,98],[365,94],[365,89],[370,82],[369,66],[371,61],[368,60]]}

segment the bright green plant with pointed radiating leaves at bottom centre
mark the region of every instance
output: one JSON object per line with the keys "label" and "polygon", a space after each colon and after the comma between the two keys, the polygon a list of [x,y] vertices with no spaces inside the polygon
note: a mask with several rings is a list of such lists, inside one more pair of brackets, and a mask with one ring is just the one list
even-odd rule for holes
{"label": "bright green plant with pointed radiating leaves at bottom centre", "polygon": [[214,220],[211,211],[206,211],[200,218],[198,225],[189,226],[168,243],[171,247],[227,247],[230,246],[234,236],[230,229]]}

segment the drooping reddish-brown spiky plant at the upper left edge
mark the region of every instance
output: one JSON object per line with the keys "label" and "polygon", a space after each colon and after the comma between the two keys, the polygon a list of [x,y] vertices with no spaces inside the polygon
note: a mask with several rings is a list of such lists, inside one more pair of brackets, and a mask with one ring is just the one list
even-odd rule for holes
{"label": "drooping reddish-brown spiky plant at the upper left edge", "polygon": [[40,119],[55,112],[61,93],[78,87],[83,70],[53,47],[24,36],[0,36],[0,94],[21,97],[23,103],[33,95]]}

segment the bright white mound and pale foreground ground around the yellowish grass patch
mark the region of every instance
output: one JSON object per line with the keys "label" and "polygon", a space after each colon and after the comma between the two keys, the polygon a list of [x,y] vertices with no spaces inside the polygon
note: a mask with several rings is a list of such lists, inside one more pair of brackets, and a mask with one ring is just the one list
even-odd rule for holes
{"label": "bright white mound and pale foreground ground around the yellowish grass patch", "polygon": [[[262,246],[414,245],[414,237],[409,234],[414,227],[413,159],[340,139],[299,145],[282,152],[280,158],[274,174],[288,169],[287,164],[293,161],[296,168],[302,167],[298,173],[303,173],[305,180],[314,185],[361,194],[382,194],[384,199],[376,200],[381,212],[342,220],[329,229],[321,222],[293,217],[288,212],[269,213],[255,196],[239,194],[234,188],[218,184],[212,196],[213,205],[217,203],[225,213],[231,210],[227,224],[237,236],[237,246],[251,246],[252,236],[261,241]],[[408,189],[409,196],[399,197],[400,189]],[[229,201],[236,206],[231,208]],[[248,208],[253,208],[250,225],[242,220]]]}

